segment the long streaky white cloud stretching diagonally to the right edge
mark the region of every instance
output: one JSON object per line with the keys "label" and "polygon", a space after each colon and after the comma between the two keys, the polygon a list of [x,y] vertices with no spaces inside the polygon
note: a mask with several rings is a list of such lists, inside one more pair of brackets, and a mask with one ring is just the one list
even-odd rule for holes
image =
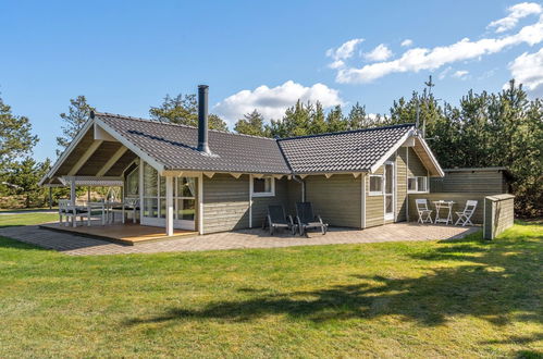
{"label": "long streaky white cloud stretching diagonally to the right edge", "polygon": [[399,59],[392,61],[377,62],[362,67],[344,65],[337,69],[336,82],[342,84],[369,83],[393,73],[435,70],[454,62],[496,53],[511,46],[520,44],[533,46],[541,41],[543,41],[543,16],[540,16],[535,24],[522,27],[517,34],[501,38],[483,38],[477,41],[464,38],[448,46],[409,49]]}

